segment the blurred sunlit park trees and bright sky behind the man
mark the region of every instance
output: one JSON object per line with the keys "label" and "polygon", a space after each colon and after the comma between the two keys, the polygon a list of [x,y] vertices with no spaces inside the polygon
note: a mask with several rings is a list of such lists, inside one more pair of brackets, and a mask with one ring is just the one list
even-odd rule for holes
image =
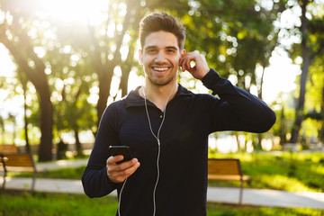
{"label": "blurred sunlit park trees and bright sky behind the man", "polygon": [[[39,161],[89,154],[105,107],[142,85],[140,19],[184,23],[184,49],[276,112],[264,134],[211,134],[211,152],[323,151],[323,0],[1,0],[0,144]],[[188,72],[179,82],[208,93]]]}

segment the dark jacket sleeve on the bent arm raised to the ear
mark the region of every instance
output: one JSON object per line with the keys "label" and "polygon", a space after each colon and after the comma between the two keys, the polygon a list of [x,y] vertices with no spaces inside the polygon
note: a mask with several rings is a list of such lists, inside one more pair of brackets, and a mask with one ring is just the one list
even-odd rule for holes
{"label": "dark jacket sleeve on the bent arm raised to the ear", "polygon": [[270,130],[275,123],[275,112],[253,94],[232,85],[216,70],[210,69],[202,78],[202,83],[211,89],[210,97],[211,132],[220,130],[240,130],[262,133]]}

